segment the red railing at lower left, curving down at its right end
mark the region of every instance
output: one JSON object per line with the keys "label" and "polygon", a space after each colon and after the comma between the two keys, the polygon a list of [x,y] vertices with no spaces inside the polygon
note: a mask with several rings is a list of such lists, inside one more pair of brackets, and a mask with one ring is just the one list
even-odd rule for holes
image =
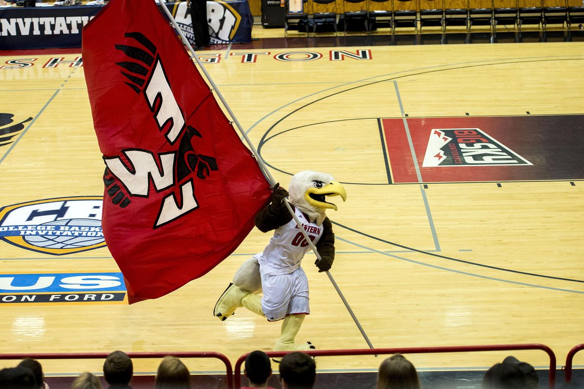
{"label": "red railing at lower left, curving down at its right end", "polygon": [[[106,359],[109,353],[46,353],[46,354],[0,354],[0,359]],[[127,355],[134,358],[164,358],[167,355],[176,356],[177,358],[216,358],[225,364],[225,372],[227,373],[227,388],[233,388],[233,369],[231,362],[227,357],[218,352],[128,352]]]}

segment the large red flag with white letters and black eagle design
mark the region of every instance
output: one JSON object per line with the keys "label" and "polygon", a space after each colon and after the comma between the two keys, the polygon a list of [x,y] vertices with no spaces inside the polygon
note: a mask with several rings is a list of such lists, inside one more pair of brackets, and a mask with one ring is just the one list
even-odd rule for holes
{"label": "large red flag with white letters and black eagle design", "polygon": [[270,187],[154,0],[112,0],[83,30],[103,153],[103,234],[130,303],[230,255]]}

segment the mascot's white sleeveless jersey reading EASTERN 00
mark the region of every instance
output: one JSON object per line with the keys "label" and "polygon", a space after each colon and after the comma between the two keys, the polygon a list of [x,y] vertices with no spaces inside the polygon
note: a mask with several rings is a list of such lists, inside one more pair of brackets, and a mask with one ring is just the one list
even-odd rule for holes
{"label": "mascot's white sleeveless jersey reading EASTERN 00", "polygon": [[[312,243],[317,244],[322,236],[322,225],[311,223],[301,211],[295,209],[296,216],[304,226]],[[308,242],[294,219],[274,230],[274,236],[263,250],[255,255],[259,271],[265,275],[289,274],[300,267],[304,254],[310,250]]]}

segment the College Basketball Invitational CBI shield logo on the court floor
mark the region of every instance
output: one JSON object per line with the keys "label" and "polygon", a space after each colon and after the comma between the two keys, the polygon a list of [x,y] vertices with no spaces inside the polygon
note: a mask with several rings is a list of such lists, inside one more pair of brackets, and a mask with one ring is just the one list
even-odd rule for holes
{"label": "College Basketball Invitational CBI shield logo on the court floor", "polygon": [[44,254],[105,247],[101,196],[62,197],[0,209],[0,239]]}

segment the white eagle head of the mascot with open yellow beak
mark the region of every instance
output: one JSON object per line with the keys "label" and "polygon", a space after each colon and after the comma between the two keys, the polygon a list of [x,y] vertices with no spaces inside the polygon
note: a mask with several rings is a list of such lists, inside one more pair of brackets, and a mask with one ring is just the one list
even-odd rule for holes
{"label": "white eagle head of the mascot with open yellow beak", "polygon": [[347,193],[330,174],[305,170],[294,174],[288,187],[290,203],[304,212],[310,220],[321,225],[326,218],[326,209],[337,210],[336,205],[326,201],[326,197],[340,196],[345,201]]}

